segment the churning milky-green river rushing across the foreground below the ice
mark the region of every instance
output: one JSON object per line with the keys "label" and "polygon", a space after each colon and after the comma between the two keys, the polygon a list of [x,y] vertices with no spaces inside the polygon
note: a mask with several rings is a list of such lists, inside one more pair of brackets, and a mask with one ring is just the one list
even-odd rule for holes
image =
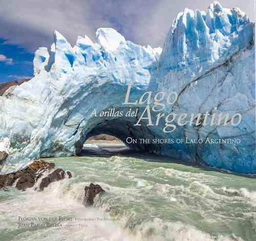
{"label": "churning milky-green river rushing across the foreground below the ice", "polygon": [[[45,160],[74,177],[44,191],[0,190],[1,241],[256,240],[256,179],[156,156]],[[90,182],[106,192],[86,208]]]}

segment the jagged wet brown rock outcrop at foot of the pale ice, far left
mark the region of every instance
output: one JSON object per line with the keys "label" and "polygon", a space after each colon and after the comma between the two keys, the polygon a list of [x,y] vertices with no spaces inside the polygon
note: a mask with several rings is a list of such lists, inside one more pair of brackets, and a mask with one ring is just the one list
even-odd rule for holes
{"label": "jagged wet brown rock outcrop at foot of the pale ice, far left", "polygon": [[[25,190],[26,188],[33,187],[37,180],[42,177],[44,172],[49,172],[53,170],[54,167],[54,163],[41,160],[34,161],[23,171],[18,171],[8,175],[0,175],[0,188],[13,186],[15,182],[15,187],[18,190]],[[50,183],[62,180],[66,178],[66,176],[71,178],[72,174],[67,172],[66,175],[66,172],[60,168],[54,170],[52,173],[41,180],[39,185],[40,190],[44,190],[44,188],[47,187]]]}

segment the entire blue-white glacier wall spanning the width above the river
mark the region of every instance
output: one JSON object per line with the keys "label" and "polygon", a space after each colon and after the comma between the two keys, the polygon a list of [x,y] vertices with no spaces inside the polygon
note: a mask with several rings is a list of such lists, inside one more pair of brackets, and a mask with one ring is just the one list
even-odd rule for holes
{"label": "entire blue-white glacier wall spanning the width above the river", "polygon": [[[1,174],[39,157],[72,156],[89,137],[101,133],[124,142],[128,136],[240,138],[239,144],[129,146],[170,160],[256,172],[254,23],[244,12],[218,2],[206,12],[185,9],[175,18],[163,49],[135,44],[111,28],[98,29],[96,40],[78,36],[72,47],[55,31],[50,50],[35,52],[34,77],[0,96],[0,147],[9,154]],[[185,125],[166,134],[161,123],[134,126],[137,118],[91,115],[94,109],[129,110],[131,106],[122,104],[129,83],[131,100],[146,90],[176,91],[178,100],[166,106],[166,113],[214,114],[217,107],[217,113],[241,113],[242,122],[237,127]]]}

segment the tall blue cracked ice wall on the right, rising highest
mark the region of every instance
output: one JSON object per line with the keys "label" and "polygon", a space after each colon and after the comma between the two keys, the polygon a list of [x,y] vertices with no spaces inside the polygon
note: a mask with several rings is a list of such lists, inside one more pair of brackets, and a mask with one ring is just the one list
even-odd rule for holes
{"label": "tall blue cracked ice wall on the right, rising highest", "polygon": [[[238,8],[218,2],[207,12],[185,9],[167,34],[159,70],[151,81],[157,91],[176,91],[177,113],[242,114],[237,127],[184,126],[177,136],[241,138],[240,144],[185,147],[190,158],[238,173],[253,173],[255,161],[254,25]],[[178,149],[178,147],[177,147]]]}

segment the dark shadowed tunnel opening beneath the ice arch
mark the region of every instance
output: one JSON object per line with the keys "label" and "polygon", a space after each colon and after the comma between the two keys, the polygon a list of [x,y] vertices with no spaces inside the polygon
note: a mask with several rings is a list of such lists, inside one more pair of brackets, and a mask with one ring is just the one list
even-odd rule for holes
{"label": "dark shadowed tunnel opening beneath the ice arch", "polygon": [[[116,118],[101,119],[97,123],[90,123],[90,130],[84,135],[77,145],[77,154],[84,154],[85,148],[100,147],[111,148],[117,146],[124,151],[132,153],[161,154],[161,145],[145,143],[142,139],[153,139],[157,136],[146,124],[134,126],[136,119]],[[103,140],[97,140],[97,139]],[[104,139],[109,138],[112,142],[110,145]],[[110,141],[110,142],[111,142]],[[98,143],[97,143],[98,142]],[[99,143],[101,142],[101,143]]]}

